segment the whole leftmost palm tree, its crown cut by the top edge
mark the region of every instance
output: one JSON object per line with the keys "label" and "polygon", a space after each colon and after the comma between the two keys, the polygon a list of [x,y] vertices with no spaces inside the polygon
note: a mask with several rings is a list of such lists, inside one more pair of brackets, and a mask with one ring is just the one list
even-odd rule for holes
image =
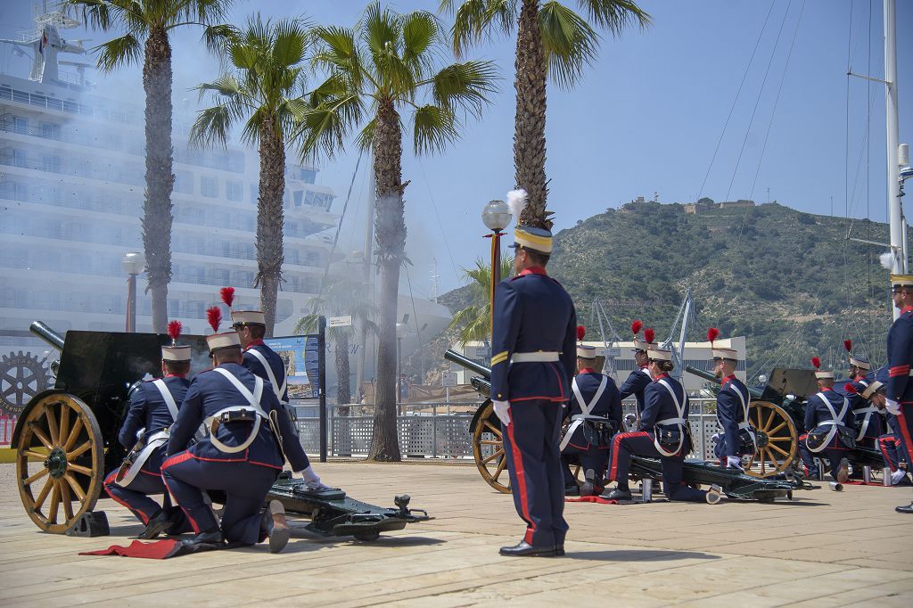
{"label": "whole leftmost palm tree, its crown cut by the top edge", "polygon": [[168,322],[168,283],[172,278],[172,49],[169,33],[180,26],[205,26],[211,40],[223,26],[231,0],[68,0],[87,25],[126,34],[97,47],[103,71],[140,63],[146,94],[146,192],[142,204],[142,246],[152,292],[152,330]]}

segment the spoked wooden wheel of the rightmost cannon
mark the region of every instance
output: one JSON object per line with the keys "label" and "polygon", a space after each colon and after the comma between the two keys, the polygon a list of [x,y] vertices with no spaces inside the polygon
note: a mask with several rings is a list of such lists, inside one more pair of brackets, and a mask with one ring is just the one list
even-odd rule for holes
{"label": "spoked wooden wheel of the rightmost cannon", "polygon": [[782,473],[792,465],[799,446],[792,417],[779,405],[752,401],[749,418],[757,432],[758,453],[751,456],[745,472],[754,477]]}

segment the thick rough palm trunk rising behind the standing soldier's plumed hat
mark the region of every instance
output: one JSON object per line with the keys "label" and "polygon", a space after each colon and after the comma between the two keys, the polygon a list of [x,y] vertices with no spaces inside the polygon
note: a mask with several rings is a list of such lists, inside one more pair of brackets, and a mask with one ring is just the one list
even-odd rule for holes
{"label": "thick rough palm trunk rising behind the standing soldier's plumed hat", "polygon": [[539,29],[539,0],[523,0],[517,32],[517,114],[514,120],[514,168],[517,187],[529,194],[519,224],[551,230],[545,215],[545,79],[547,65]]}

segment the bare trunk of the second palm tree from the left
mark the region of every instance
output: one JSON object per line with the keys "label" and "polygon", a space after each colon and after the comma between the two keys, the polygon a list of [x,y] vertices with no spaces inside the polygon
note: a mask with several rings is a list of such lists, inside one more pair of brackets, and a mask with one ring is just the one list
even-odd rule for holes
{"label": "bare trunk of the second palm tree from the left", "polygon": [[267,336],[276,324],[276,299],[282,280],[282,196],[285,193],[285,144],[269,118],[260,125],[260,197],[257,201],[257,280]]}

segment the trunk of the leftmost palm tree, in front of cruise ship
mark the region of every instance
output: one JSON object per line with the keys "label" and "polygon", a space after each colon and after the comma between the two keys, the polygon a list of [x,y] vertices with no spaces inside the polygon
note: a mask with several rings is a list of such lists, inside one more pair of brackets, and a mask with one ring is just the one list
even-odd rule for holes
{"label": "trunk of the leftmost palm tree, in front of cruise ship", "polygon": [[152,292],[152,330],[168,323],[171,281],[172,65],[168,33],[153,28],[145,45],[142,88],[146,93],[146,196],[142,204],[142,246]]}

